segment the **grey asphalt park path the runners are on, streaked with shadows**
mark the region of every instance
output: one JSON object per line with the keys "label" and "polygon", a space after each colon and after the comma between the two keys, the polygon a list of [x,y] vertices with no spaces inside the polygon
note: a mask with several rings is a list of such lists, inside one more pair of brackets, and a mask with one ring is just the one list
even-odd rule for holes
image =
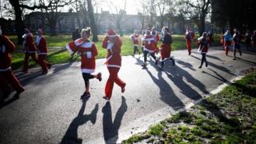
{"label": "grey asphalt park path the runners are on, streaked with shadows", "polygon": [[84,101],[79,62],[55,65],[47,75],[38,68],[28,74],[18,71],[26,91],[18,100],[11,94],[1,107],[0,143],[121,142],[256,64],[255,53],[244,53],[234,61],[222,50],[210,50],[209,66],[198,69],[201,54],[196,51],[192,56],[186,50],[172,52],[176,66],[166,62],[164,70],[158,70],[150,58],[147,69],[142,69],[142,57],[122,57],[119,77],[126,82],[126,92],[115,85],[110,102],[102,98],[109,75],[105,59],[97,60],[102,82],[90,80],[91,97]]}

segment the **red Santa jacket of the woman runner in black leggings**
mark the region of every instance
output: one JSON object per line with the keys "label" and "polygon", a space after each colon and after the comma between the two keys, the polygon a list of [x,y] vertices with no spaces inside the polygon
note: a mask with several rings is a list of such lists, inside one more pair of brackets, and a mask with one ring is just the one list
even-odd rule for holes
{"label": "red Santa jacket of the woman runner in black leggings", "polygon": [[83,41],[82,38],[78,38],[66,45],[66,49],[70,51],[70,54],[74,54],[76,51],[81,56],[81,70],[82,73],[91,74],[95,71],[95,60],[98,55],[98,50],[94,42]]}

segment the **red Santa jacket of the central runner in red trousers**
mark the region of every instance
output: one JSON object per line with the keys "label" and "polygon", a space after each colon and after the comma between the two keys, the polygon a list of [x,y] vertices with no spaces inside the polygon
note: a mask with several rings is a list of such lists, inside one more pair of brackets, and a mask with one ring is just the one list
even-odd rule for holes
{"label": "red Santa jacket of the central runner in red trousers", "polygon": [[122,46],[122,40],[118,36],[114,37],[114,45],[112,47],[108,47],[109,44],[109,38],[104,38],[102,42],[102,47],[104,49],[108,49],[111,51],[112,54],[106,55],[106,66],[110,67],[121,67],[122,64],[122,57],[121,57],[121,46]]}

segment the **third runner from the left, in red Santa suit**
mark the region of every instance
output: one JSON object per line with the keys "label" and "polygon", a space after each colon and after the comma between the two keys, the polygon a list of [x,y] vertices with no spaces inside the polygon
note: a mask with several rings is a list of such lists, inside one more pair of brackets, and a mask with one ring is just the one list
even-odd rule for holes
{"label": "third runner from the left, in red Santa suit", "polygon": [[46,46],[46,38],[42,36],[42,29],[38,29],[38,37],[35,43],[38,47],[38,62],[42,66],[42,74],[47,74],[51,64],[46,61],[48,48]]}

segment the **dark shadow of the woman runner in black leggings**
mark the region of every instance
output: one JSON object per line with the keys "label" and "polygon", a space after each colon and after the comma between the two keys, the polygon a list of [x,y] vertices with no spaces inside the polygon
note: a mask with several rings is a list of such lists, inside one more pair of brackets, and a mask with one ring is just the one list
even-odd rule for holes
{"label": "dark shadow of the woman runner in black leggings", "polygon": [[97,120],[98,104],[94,107],[94,110],[90,114],[83,114],[86,109],[86,102],[88,98],[82,101],[81,109],[79,110],[78,116],[73,119],[70,123],[69,128],[66,130],[66,134],[62,138],[61,144],[78,144],[82,143],[82,139],[78,138],[78,126],[82,126],[86,122],[92,122],[93,124]]}

